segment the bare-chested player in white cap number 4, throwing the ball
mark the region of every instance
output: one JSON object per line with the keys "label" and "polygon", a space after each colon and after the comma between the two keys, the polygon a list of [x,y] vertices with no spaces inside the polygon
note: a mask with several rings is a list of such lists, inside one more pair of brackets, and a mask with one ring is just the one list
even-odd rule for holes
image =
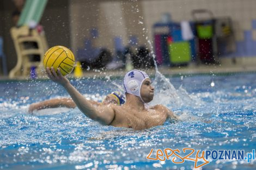
{"label": "bare-chested player in white cap number 4, throwing the ball", "polygon": [[53,67],[51,70],[47,67],[46,72],[52,81],[62,85],[68,91],[84,115],[103,125],[142,130],[162,125],[167,118],[178,119],[163,105],[145,107],[145,103],[153,100],[154,87],[151,85],[148,74],[143,71],[131,70],[125,74],[126,102],[124,105],[107,104],[97,107],[70,84],[69,80],[60,73],[59,68],[56,73]]}

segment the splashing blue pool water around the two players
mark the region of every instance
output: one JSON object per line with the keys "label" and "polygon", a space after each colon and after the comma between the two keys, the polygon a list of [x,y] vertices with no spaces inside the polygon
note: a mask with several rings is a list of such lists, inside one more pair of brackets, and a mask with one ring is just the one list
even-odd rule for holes
{"label": "splashing blue pool water around the two players", "polygon": [[[102,126],[77,108],[28,114],[29,104],[68,96],[68,93],[47,80],[1,81],[0,168],[193,169],[193,161],[175,164],[171,160],[156,161],[146,157],[151,149],[154,149],[151,155],[154,158],[156,149],[165,148],[245,150],[245,153],[256,148],[255,73],[167,76],[178,89],[175,92],[171,86],[167,87],[166,80],[155,79],[153,104],[167,105],[181,116],[182,121],[167,121],[164,125],[141,131]],[[111,81],[121,85],[122,80]],[[117,90],[111,81],[81,79],[71,83],[87,97],[101,99],[108,92]],[[201,167],[255,168],[253,160],[250,163],[210,160],[208,165]]]}

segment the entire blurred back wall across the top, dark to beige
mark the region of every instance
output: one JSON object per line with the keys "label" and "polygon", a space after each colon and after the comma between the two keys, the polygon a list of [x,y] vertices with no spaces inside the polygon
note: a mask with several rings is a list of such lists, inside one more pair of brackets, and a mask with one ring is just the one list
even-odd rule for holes
{"label": "entire blurred back wall across the top, dark to beige", "polygon": [[[84,49],[85,40],[95,47],[114,51],[114,38],[120,37],[122,46],[131,41],[147,45],[153,41],[153,24],[161,21],[164,13],[172,21],[193,21],[193,9],[209,9],[215,17],[231,17],[235,33],[235,57],[256,56],[255,0],[50,0],[41,24],[44,26],[49,47],[70,47],[76,55]],[[16,64],[16,53],[9,30],[14,26],[11,14],[13,1],[0,1],[0,36],[4,39],[8,70]]]}

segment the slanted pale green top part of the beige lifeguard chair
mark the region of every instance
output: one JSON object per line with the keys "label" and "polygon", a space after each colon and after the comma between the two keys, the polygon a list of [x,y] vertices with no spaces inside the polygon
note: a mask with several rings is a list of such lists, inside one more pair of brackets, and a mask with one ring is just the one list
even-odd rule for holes
{"label": "slanted pale green top part of the beige lifeguard chair", "polygon": [[38,24],[45,10],[47,0],[27,0],[21,11],[17,26],[29,26],[30,23]]}

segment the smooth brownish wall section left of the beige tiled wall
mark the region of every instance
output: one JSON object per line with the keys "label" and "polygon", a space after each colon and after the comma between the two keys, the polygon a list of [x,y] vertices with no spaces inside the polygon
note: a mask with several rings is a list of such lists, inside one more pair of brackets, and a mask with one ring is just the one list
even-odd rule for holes
{"label": "smooth brownish wall section left of the beige tiled wall", "polygon": [[96,28],[98,36],[93,43],[98,47],[107,47],[113,51],[114,37],[121,37],[123,46],[129,44],[132,37],[139,43],[145,43],[143,33],[143,10],[137,1],[71,1],[71,44],[72,49],[82,48],[84,39],[91,37],[90,30]]}

